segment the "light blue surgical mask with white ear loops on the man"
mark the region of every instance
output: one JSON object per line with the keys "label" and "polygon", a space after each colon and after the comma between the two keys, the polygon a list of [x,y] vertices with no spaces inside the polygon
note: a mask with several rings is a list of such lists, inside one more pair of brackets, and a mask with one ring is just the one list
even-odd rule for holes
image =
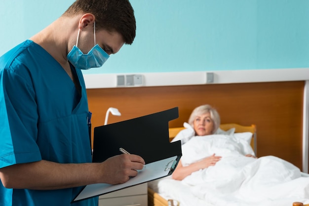
{"label": "light blue surgical mask with white ear loops on the man", "polygon": [[95,22],[94,22],[94,46],[90,49],[87,54],[77,47],[78,37],[80,29],[77,34],[76,45],[73,46],[72,50],[68,53],[67,59],[77,69],[87,70],[90,68],[101,67],[106,60],[110,57],[98,44],[95,44]]}

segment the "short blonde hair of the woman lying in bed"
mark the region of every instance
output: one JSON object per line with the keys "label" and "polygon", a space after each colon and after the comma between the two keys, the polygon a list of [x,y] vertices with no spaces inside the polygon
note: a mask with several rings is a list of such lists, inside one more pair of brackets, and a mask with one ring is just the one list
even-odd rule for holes
{"label": "short blonde hair of the woman lying in bed", "polygon": [[205,113],[210,114],[210,118],[214,123],[213,133],[215,133],[220,126],[220,115],[217,112],[217,110],[214,109],[209,104],[204,104],[204,105],[196,107],[192,111],[188,123],[193,127],[193,122],[194,122],[194,119],[196,118],[196,116],[203,115]]}

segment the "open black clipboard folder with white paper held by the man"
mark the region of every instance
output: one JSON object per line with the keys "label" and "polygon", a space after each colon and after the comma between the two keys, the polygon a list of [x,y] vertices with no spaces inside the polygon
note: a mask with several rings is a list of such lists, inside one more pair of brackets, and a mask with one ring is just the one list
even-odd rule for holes
{"label": "open black clipboard folder with white paper held by the man", "polygon": [[124,148],[146,162],[136,177],[118,184],[86,185],[72,202],[108,194],[169,176],[182,156],[181,142],[169,142],[168,122],[178,118],[178,107],[151,115],[94,128],[92,162],[103,162]]}

